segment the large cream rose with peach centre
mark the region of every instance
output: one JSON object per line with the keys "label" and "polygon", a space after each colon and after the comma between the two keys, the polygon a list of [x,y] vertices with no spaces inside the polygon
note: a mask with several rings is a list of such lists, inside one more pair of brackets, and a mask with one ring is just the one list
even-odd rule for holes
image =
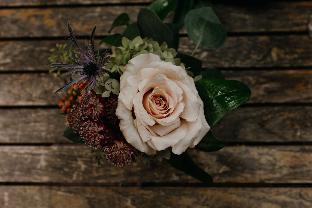
{"label": "large cream rose with peach centre", "polygon": [[181,154],[210,129],[193,78],[152,53],[124,66],[116,115],[127,142],[149,155],[168,147]]}

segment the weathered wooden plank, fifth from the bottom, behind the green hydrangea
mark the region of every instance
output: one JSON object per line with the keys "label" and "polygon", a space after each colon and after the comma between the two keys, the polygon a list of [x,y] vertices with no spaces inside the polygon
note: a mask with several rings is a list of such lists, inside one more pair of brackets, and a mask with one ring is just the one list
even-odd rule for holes
{"label": "weathered wooden plank, fifth from the bottom, behind the green hydrangea", "polygon": [[[98,46],[99,39],[95,41]],[[80,40],[84,43],[83,40]],[[0,71],[46,71],[47,57],[60,40],[0,41]],[[308,35],[227,37],[216,50],[197,49],[195,57],[203,67],[312,67],[312,39]],[[101,48],[109,46],[101,45]],[[188,37],[180,38],[178,51],[191,54],[195,44]],[[22,56],[21,56],[22,54]]]}

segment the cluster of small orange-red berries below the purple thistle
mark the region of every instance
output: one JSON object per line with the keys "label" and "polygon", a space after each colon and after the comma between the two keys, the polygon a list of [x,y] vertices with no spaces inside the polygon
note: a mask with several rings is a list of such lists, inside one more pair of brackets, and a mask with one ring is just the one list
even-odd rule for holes
{"label": "cluster of small orange-red berries below the purple thistle", "polygon": [[60,101],[58,106],[62,109],[62,113],[69,113],[69,111],[73,108],[73,105],[76,105],[77,98],[80,98],[81,91],[88,84],[88,81],[84,81],[82,83],[71,85],[71,89],[68,90],[67,95],[64,96]]}

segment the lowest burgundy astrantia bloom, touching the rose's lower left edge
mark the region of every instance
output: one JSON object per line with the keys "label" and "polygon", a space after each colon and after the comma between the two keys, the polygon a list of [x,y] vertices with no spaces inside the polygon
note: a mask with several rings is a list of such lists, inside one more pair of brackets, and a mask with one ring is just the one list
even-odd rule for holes
{"label": "lowest burgundy astrantia bloom, touching the rose's lower left edge", "polygon": [[108,152],[106,159],[109,163],[124,167],[131,163],[131,159],[135,162],[136,153],[132,150],[132,146],[123,140],[112,141],[112,144],[105,147],[104,152]]}

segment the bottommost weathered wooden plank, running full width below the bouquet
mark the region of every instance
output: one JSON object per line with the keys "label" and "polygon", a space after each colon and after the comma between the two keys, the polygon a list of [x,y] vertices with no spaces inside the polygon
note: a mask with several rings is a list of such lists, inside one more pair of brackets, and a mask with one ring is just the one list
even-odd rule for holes
{"label": "bottommost weathered wooden plank, running full width below the bouquet", "polygon": [[1,207],[308,208],[311,188],[2,186]]}

